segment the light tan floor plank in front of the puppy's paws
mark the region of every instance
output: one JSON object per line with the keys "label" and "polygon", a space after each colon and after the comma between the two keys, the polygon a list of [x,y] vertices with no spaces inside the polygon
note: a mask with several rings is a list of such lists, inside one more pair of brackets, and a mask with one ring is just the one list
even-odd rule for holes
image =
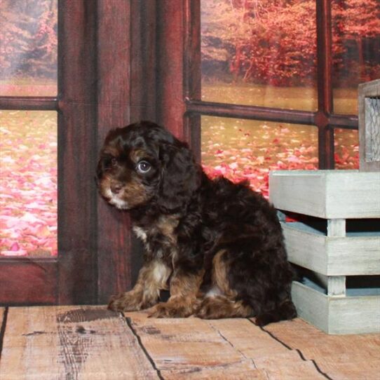
{"label": "light tan floor plank in front of the puppy's paws", "polygon": [[[153,319],[128,313],[165,379],[322,379],[310,361],[246,319]],[[243,377],[245,376],[245,377]]]}

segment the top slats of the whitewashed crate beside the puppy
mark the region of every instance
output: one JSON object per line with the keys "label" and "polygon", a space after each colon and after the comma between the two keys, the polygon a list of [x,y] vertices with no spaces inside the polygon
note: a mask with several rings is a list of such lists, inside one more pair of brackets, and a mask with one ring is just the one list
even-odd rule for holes
{"label": "top slats of the whitewashed crate beside the puppy", "polygon": [[379,218],[380,172],[283,170],[269,175],[279,210],[323,219]]}

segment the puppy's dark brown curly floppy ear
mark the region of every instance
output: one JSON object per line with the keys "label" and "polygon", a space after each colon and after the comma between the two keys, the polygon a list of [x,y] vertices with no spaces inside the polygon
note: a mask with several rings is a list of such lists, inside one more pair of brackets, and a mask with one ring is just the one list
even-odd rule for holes
{"label": "puppy's dark brown curly floppy ear", "polygon": [[158,205],[171,211],[185,208],[201,185],[201,168],[185,145],[162,144],[160,148],[162,169]]}

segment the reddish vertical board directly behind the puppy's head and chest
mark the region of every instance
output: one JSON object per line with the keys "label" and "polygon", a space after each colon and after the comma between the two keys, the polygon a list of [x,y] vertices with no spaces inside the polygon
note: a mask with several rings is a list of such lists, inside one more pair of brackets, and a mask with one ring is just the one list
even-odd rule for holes
{"label": "reddish vertical board directly behind the puppy's head and chest", "polygon": [[[111,128],[156,120],[155,24],[156,1],[97,1],[96,154]],[[104,303],[132,287],[142,249],[130,232],[128,213],[100,197],[97,252],[97,302]]]}

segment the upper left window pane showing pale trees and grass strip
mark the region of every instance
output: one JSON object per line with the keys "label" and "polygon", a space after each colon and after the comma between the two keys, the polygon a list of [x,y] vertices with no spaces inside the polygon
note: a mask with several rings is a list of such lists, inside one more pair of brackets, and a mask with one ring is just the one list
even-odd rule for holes
{"label": "upper left window pane showing pale trees and grass strip", "polygon": [[0,95],[56,95],[57,0],[1,0],[0,25]]}

